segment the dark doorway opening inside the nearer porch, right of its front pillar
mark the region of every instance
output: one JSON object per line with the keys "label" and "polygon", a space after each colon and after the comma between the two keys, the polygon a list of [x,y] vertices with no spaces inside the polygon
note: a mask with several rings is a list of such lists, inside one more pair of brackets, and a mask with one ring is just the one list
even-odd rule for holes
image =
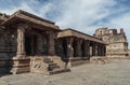
{"label": "dark doorway opening inside the nearer porch, right of its front pillar", "polygon": [[25,51],[27,56],[34,56],[37,54],[37,36],[25,37]]}

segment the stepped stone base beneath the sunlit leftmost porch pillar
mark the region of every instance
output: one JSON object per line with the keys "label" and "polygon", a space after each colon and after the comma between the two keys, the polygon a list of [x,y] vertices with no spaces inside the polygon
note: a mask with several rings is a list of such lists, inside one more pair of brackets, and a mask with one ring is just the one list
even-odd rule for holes
{"label": "stepped stone base beneath the sunlit leftmost porch pillar", "polygon": [[30,63],[29,57],[26,58],[14,57],[11,73],[18,74],[18,73],[30,72],[29,63]]}

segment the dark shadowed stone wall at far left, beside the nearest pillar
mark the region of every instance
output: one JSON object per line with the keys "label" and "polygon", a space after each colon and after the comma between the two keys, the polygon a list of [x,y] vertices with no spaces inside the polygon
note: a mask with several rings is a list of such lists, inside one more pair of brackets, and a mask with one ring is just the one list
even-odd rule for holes
{"label": "dark shadowed stone wall at far left, beside the nearest pillar", "polygon": [[0,29],[0,73],[10,73],[16,56],[16,31]]}

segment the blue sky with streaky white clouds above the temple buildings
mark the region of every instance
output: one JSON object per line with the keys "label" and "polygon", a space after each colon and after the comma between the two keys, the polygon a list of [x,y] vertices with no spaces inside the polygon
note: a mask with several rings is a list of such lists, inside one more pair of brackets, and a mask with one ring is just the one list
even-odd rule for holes
{"label": "blue sky with streaky white clouds above the temple buildings", "polygon": [[[123,28],[130,42],[129,0],[0,0],[0,12],[24,10],[61,27],[93,34],[96,28]],[[129,46],[130,47],[130,46]]]}

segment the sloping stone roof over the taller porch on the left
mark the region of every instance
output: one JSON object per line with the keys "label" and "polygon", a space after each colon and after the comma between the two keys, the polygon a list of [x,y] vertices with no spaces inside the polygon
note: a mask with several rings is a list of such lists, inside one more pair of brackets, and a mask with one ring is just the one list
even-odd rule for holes
{"label": "sloping stone roof over the taller porch on the left", "polygon": [[43,19],[39,16],[36,16],[34,14],[30,14],[22,10],[16,11],[14,14],[10,16],[10,18],[4,20],[1,25],[6,26],[14,23],[20,23],[20,22],[31,24],[31,25],[39,25],[40,27],[47,27],[53,30],[60,30],[58,26],[56,26],[53,22]]}

